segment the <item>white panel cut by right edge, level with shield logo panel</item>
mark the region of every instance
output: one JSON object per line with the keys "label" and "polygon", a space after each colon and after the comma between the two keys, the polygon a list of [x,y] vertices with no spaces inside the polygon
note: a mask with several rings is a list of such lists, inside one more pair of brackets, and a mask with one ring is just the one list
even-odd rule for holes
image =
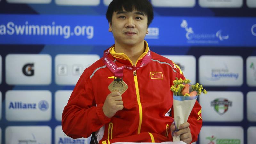
{"label": "white panel cut by right edge, level with shield logo panel", "polygon": [[247,119],[256,122],[256,92],[247,93]]}

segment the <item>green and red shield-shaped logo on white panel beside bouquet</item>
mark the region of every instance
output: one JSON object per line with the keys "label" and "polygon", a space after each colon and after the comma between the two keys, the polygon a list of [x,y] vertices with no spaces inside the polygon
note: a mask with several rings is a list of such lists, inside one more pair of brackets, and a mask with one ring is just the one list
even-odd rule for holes
{"label": "green and red shield-shaped logo on white panel beside bouquet", "polygon": [[228,111],[228,107],[232,106],[232,101],[228,101],[228,99],[225,98],[217,98],[211,101],[211,106],[214,107],[214,110],[219,115],[223,115]]}

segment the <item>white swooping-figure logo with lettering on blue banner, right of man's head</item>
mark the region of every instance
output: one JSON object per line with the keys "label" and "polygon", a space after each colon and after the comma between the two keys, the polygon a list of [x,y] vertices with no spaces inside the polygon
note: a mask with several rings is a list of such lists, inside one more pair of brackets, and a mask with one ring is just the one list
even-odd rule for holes
{"label": "white swooping-figure logo with lettering on blue banner, right of man's head", "polygon": [[223,36],[222,30],[218,30],[215,34],[195,34],[192,27],[188,28],[187,20],[182,20],[182,23],[180,24],[181,28],[185,28],[186,30],[186,38],[188,40],[197,39],[197,40],[207,40],[207,39],[215,39],[219,38],[221,41],[227,40],[229,38],[229,35]]}

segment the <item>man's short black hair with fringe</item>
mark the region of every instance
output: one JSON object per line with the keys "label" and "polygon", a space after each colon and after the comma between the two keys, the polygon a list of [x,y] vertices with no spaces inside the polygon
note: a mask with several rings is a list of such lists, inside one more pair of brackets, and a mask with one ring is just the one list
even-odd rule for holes
{"label": "man's short black hair with fringe", "polygon": [[113,0],[106,12],[108,22],[112,23],[113,12],[123,11],[123,8],[127,12],[137,10],[148,16],[148,26],[153,20],[153,7],[148,0]]}

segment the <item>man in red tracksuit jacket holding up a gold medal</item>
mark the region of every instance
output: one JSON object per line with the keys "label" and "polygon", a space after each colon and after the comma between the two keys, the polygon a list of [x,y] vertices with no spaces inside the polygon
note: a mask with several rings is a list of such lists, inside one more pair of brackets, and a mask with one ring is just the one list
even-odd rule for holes
{"label": "man in red tracksuit jacket holding up a gold medal", "polygon": [[[144,41],[153,19],[148,0],[113,0],[107,10],[115,45],[86,68],[62,114],[71,138],[96,132],[99,144],[172,141],[175,78],[185,79],[171,60],[150,52]],[[181,141],[197,140],[202,126],[196,104],[188,122],[173,132]]]}

